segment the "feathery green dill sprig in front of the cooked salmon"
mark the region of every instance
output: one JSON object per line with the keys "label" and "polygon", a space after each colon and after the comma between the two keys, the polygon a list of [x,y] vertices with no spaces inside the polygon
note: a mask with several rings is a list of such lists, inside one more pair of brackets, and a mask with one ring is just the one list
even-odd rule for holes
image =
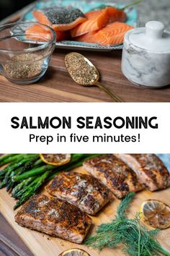
{"label": "feathery green dill sprig in front of the cooked salmon", "polygon": [[133,219],[127,218],[126,210],[134,195],[134,192],[128,194],[120,202],[115,220],[98,226],[96,235],[87,239],[84,244],[97,249],[114,248],[122,244],[122,251],[130,256],[170,256],[170,252],[156,240],[158,230],[149,231],[140,224],[139,213]]}

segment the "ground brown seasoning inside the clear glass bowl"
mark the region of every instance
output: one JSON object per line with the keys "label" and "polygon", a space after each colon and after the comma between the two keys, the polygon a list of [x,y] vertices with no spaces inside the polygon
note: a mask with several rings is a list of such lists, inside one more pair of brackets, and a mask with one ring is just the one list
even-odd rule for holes
{"label": "ground brown seasoning inside the clear glass bowl", "polygon": [[4,65],[6,76],[13,79],[27,79],[37,76],[42,71],[42,57],[37,54],[13,56]]}

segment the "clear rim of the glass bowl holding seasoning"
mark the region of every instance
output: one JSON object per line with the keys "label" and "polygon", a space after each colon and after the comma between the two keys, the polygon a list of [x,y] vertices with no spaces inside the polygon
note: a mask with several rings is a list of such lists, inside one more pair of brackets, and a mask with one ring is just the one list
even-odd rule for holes
{"label": "clear rim of the glass bowl holding seasoning", "polygon": [[[32,48],[28,48],[28,49],[25,49],[25,50],[6,50],[6,49],[3,49],[3,48],[0,48],[0,51],[1,52],[6,52],[6,53],[9,53],[9,52],[14,52],[14,53],[23,53],[23,52],[32,52],[32,51],[38,51],[38,50],[42,50],[44,48],[47,48],[48,46],[52,45],[53,43],[55,43],[55,40],[56,40],[56,33],[55,33],[55,30],[53,30],[52,27],[48,26],[48,25],[45,25],[45,24],[42,24],[40,22],[32,22],[32,21],[19,21],[19,22],[12,22],[12,23],[6,23],[4,25],[0,25],[0,30],[1,29],[6,29],[7,27],[12,27],[12,26],[15,26],[15,25],[21,25],[21,24],[35,24],[35,25],[42,25],[43,27],[46,27],[48,29],[50,29],[50,31],[52,32],[52,35],[53,37],[48,40],[48,42],[44,42],[42,43],[42,45],[40,46],[36,46],[36,47],[32,47]],[[5,37],[0,37],[0,40],[3,40]]]}

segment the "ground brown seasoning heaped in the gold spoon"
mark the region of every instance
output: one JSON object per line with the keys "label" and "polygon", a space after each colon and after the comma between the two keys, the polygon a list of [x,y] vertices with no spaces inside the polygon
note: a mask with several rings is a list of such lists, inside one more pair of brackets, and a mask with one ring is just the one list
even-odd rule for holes
{"label": "ground brown seasoning heaped in the gold spoon", "polygon": [[65,59],[66,68],[73,80],[80,85],[92,85],[97,81],[98,72],[84,56],[68,54]]}

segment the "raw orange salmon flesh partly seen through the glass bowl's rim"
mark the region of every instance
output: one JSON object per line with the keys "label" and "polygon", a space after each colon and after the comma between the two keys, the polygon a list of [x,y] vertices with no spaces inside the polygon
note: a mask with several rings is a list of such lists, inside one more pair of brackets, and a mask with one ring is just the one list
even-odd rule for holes
{"label": "raw orange salmon flesh partly seen through the glass bowl's rim", "polygon": [[[56,33],[56,41],[68,39],[67,31],[55,31],[55,33]],[[48,29],[45,29],[45,27],[35,24],[27,28],[26,38],[32,39],[32,40],[48,41],[51,38],[51,33]]]}

